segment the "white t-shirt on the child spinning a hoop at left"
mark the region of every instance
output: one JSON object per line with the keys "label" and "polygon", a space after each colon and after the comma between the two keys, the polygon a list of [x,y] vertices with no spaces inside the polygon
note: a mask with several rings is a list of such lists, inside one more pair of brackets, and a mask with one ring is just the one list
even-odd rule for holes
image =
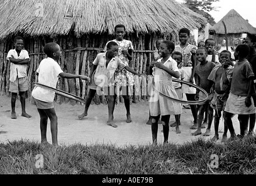
{"label": "white t-shirt on the child spinning a hoop at left", "polygon": [[[56,88],[58,76],[62,72],[61,67],[54,59],[43,59],[37,69],[37,73],[39,74],[38,83]],[[55,92],[46,90],[45,88],[35,87],[31,95],[40,101],[53,102]]]}

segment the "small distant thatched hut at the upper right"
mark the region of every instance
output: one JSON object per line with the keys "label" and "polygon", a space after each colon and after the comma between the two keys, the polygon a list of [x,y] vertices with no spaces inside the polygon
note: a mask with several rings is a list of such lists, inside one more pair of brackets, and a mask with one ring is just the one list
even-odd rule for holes
{"label": "small distant thatched hut at the upper right", "polygon": [[233,38],[241,38],[243,33],[256,34],[256,28],[251,26],[251,24],[248,23],[248,20],[243,19],[236,10],[232,9],[212,27],[212,29],[215,30],[213,38],[215,38],[218,44],[222,44],[222,41],[225,38],[225,29],[222,21],[227,28],[229,46],[233,45]]}

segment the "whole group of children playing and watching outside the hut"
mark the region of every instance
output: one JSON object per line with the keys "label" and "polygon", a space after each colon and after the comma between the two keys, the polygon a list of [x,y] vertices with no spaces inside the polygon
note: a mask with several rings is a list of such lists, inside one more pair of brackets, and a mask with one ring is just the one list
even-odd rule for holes
{"label": "whole group of children playing and watching outside the hut", "polygon": [[[149,71],[152,73],[153,78],[152,85],[150,85],[152,89],[149,91],[149,121],[147,124],[151,124],[153,144],[157,144],[159,121],[163,125],[164,143],[168,142],[171,115],[175,116],[176,121],[170,126],[176,127],[177,134],[181,133],[179,128],[182,113],[181,103],[172,101],[161,94],[180,100],[183,99],[185,94],[188,101],[204,99],[202,92],[190,85],[173,82],[173,78],[197,84],[208,93],[208,99],[204,103],[190,105],[194,119],[191,129],[197,129],[192,135],[201,134],[201,128],[206,126],[207,129],[204,135],[211,134],[213,110],[215,110],[215,136],[212,138],[213,141],[219,139],[218,127],[222,111],[225,119],[223,141],[227,139],[227,130],[230,131],[230,138],[237,138],[232,124],[232,117],[236,114],[239,115],[240,136],[246,135],[249,120],[249,134],[253,134],[255,124],[253,98],[256,97],[254,89],[256,81],[253,71],[256,68],[254,64],[256,53],[255,35],[248,35],[247,45],[237,46],[234,52],[237,62],[234,65],[229,51],[222,51],[219,55],[216,54],[215,41],[212,38],[207,39],[205,42],[199,42],[198,46],[195,46],[188,43],[190,30],[182,28],[178,34],[180,40],[178,45],[174,45],[171,41],[164,41],[162,38],[157,40],[158,51],[154,53],[155,60],[150,64]],[[54,42],[45,44],[43,50],[47,58],[40,62],[36,70],[36,82],[55,88],[59,77],[87,80],[90,89],[85,103],[85,110],[78,118],[83,119],[83,117],[87,116],[90,103],[97,92],[99,95],[107,95],[107,124],[112,127],[117,127],[114,123],[113,113],[115,100],[121,91],[125,109],[127,110],[126,121],[130,123],[132,121],[130,99],[131,87],[134,85],[134,74],[136,76],[144,76],[145,74],[139,74],[129,67],[128,62],[132,60],[134,48],[131,41],[124,40],[124,35],[125,26],[122,24],[115,26],[115,40],[108,41],[104,48],[105,52],[96,56],[89,77],[64,73],[58,65],[61,48]],[[15,100],[17,92],[20,94],[20,102],[22,103],[22,116],[31,117],[25,111],[25,92],[28,90],[26,65],[29,63],[30,58],[27,51],[23,49],[23,38],[16,37],[14,42],[15,49],[10,50],[7,56],[10,61],[9,91],[12,92],[12,119],[16,119]],[[247,60],[248,56],[250,57],[251,65]],[[47,121],[50,119],[52,144],[58,145],[58,119],[53,105],[54,95],[53,91],[37,86],[31,92],[31,98],[34,99],[40,115],[41,142],[48,143],[46,131]]]}

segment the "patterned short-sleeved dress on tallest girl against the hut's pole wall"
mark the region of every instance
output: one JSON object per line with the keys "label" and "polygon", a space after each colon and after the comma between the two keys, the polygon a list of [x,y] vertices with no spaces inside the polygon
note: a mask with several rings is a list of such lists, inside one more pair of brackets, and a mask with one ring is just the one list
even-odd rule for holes
{"label": "patterned short-sleeved dress on tallest girl against the hut's pole wall", "polygon": [[[122,54],[122,50],[129,50],[131,49],[132,51],[134,50],[134,47],[132,46],[132,42],[129,40],[122,40],[122,41],[117,41],[117,40],[112,40],[114,42],[116,42],[118,44],[118,55],[117,57],[120,58],[122,60],[122,62],[129,66],[128,62],[128,58],[127,56],[124,56]],[[110,42],[110,41],[108,41]],[[108,44],[107,42],[107,44]],[[107,51],[107,44],[104,48],[104,51]],[[123,69],[123,70],[119,70],[117,69],[115,71],[115,85],[116,86],[130,86],[130,85],[134,85],[134,74],[130,73],[129,71]]]}

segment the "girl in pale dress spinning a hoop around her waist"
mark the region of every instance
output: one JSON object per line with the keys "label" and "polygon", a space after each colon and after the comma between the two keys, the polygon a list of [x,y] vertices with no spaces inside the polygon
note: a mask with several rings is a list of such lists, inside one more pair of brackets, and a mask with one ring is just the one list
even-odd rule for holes
{"label": "girl in pale dress spinning a hoop around her waist", "polygon": [[[163,41],[160,44],[159,55],[160,59],[153,62],[153,76],[155,83],[155,90],[172,98],[178,99],[176,91],[174,90],[171,78],[180,77],[177,62],[171,58],[171,53],[174,51],[174,44],[171,41]],[[153,144],[157,144],[157,130],[158,120],[162,115],[164,144],[168,142],[169,137],[169,120],[170,115],[180,115],[182,113],[181,104],[173,102],[154,91],[150,96],[149,110],[152,116],[152,140]]]}

